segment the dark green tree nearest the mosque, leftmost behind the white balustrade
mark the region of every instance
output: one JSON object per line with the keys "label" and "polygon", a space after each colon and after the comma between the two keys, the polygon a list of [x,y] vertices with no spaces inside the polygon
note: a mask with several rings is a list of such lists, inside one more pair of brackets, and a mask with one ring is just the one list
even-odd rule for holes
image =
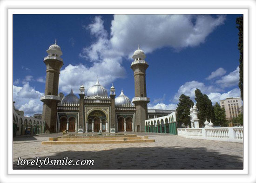
{"label": "dark green tree nearest the mosque, leftmost behind the white balustrade", "polygon": [[178,126],[189,125],[190,121],[190,107],[194,105],[194,102],[190,100],[189,96],[182,94],[179,98],[178,107],[176,108]]}

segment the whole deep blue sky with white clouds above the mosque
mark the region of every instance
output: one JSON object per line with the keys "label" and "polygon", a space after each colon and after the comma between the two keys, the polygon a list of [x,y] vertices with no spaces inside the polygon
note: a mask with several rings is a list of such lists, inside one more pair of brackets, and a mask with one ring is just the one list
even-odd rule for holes
{"label": "whole deep blue sky with white clouds above the mosque", "polygon": [[13,15],[13,100],[25,115],[41,113],[43,58],[61,46],[59,92],[96,82],[134,97],[132,54],[146,53],[149,108],[175,109],[195,88],[213,103],[240,96],[236,17],[241,15]]}

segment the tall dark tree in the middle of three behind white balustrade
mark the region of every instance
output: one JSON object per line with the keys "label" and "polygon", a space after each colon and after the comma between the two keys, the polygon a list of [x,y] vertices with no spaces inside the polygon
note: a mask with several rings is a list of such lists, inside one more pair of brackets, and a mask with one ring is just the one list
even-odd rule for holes
{"label": "tall dark tree in the middle of three behind white balustrade", "polygon": [[202,94],[200,89],[196,88],[195,90],[195,101],[196,107],[198,109],[198,119],[199,119],[199,126],[204,125],[204,121],[207,120],[214,120],[213,111],[212,111],[212,102],[208,98],[207,95]]}

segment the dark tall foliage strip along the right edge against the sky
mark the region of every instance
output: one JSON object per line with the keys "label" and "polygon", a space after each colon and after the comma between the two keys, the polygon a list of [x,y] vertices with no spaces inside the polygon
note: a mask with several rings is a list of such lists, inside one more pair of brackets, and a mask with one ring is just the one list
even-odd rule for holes
{"label": "dark tall foliage strip along the right edge against the sky", "polygon": [[243,100],[243,16],[236,18],[236,28],[239,30],[239,42],[238,42],[238,50],[240,52],[239,58],[239,88],[241,91],[241,98]]}

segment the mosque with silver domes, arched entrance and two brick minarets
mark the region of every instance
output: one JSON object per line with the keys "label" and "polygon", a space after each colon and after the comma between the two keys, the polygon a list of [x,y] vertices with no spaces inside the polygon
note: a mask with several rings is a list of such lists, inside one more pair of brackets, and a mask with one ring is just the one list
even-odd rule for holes
{"label": "mosque with silver domes, arched entrance and two brick minarets", "polygon": [[146,69],[148,63],[146,55],[138,48],[133,54],[131,69],[135,78],[135,97],[130,100],[121,90],[115,95],[112,83],[110,95],[98,79],[87,92],[81,85],[77,97],[73,90],[66,96],[58,93],[60,69],[63,66],[62,51],[59,45],[51,45],[44,58],[46,64],[45,95],[43,102],[42,120],[46,122],[46,129],[50,133],[59,133],[64,130],[74,133],[93,132],[145,132],[145,120],[171,114],[173,110],[148,110],[146,92]]}

